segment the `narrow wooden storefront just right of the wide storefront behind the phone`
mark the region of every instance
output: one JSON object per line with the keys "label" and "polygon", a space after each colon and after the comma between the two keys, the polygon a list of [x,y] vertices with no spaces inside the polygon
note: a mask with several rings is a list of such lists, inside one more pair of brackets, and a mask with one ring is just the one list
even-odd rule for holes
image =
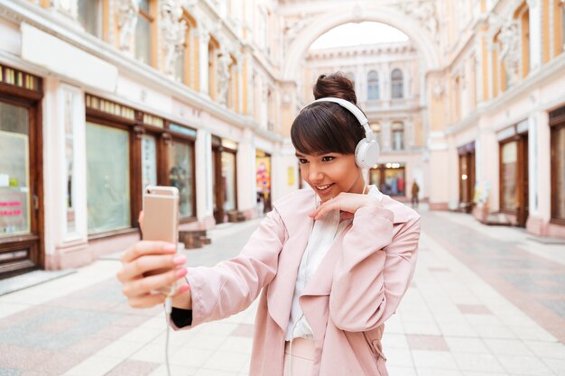
{"label": "narrow wooden storefront just right of the wide storefront behind the phone", "polygon": [[212,187],[217,224],[226,222],[227,213],[237,210],[236,155],[236,142],[212,137]]}

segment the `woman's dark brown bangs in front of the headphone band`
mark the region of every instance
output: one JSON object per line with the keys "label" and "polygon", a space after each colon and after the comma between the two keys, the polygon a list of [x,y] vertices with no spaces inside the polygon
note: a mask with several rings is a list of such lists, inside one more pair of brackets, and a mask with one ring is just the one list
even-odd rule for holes
{"label": "woman's dark brown bangs in front of the headphone band", "polygon": [[308,155],[355,153],[361,138],[349,124],[352,124],[351,117],[353,124],[358,124],[357,118],[340,109],[337,104],[317,103],[302,110],[291,128],[292,145],[296,151]]}

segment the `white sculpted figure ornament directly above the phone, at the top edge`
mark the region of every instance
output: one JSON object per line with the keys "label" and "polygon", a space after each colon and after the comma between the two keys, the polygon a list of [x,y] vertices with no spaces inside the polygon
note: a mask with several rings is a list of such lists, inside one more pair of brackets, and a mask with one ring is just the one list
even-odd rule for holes
{"label": "white sculpted figure ornament directly above the phone, at the top edge", "polygon": [[174,76],[175,62],[184,48],[188,25],[182,19],[179,0],[165,0],[161,3],[163,70],[166,75]]}

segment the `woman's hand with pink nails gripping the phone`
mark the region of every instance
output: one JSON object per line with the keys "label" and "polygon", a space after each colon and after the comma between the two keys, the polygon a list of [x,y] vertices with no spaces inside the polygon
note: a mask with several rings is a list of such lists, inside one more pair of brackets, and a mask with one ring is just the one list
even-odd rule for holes
{"label": "woman's hand with pink nails gripping the phone", "polygon": [[122,254],[123,267],[116,276],[123,284],[122,291],[130,307],[162,304],[167,297],[154,291],[168,289],[173,283],[179,283],[173,298],[187,293],[190,288],[184,279],[186,260],[186,256],[176,253],[176,245],[171,243],[141,241],[128,248]]}

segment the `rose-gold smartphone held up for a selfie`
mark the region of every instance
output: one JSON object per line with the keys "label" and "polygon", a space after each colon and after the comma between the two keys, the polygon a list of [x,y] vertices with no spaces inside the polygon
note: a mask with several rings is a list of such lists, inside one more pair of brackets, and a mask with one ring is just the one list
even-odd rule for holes
{"label": "rose-gold smartphone held up for a selfie", "polygon": [[[179,239],[179,189],[175,187],[148,186],[144,188],[144,240],[178,244]],[[178,248],[177,248],[178,252]],[[146,275],[159,274],[152,271]],[[176,286],[155,293],[173,295]]]}

